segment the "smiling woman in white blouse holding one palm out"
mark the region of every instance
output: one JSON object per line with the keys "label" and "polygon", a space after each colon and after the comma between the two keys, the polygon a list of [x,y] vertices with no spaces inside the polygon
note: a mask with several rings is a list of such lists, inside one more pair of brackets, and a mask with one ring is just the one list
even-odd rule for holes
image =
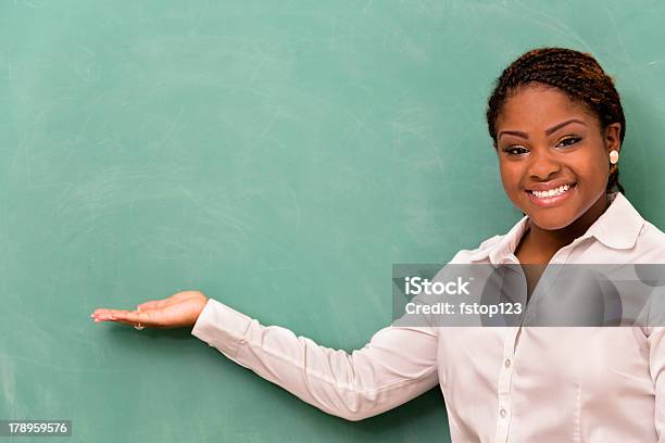
{"label": "smiling woman in white blouse holding one palm out", "polygon": [[[664,263],[665,235],[623,194],[619,96],[589,54],[531,50],[487,109],[505,193],[525,217],[451,263]],[[614,192],[617,188],[619,192]],[[538,275],[527,275],[531,286]],[[453,441],[665,441],[664,328],[390,326],[348,354],[262,326],[200,292],[95,321],[191,327],[234,362],[349,420],[440,384]]]}

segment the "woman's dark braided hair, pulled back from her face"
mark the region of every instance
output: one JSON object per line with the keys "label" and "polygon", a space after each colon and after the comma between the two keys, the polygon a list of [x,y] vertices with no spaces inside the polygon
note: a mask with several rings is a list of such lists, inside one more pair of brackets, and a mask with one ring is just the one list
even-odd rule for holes
{"label": "woman's dark braided hair, pulled back from her face", "polygon": [[[595,115],[601,130],[620,123],[619,140],[624,143],[626,118],[614,81],[601,65],[586,52],[566,48],[536,48],[522,54],[494,81],[487,103],[487,125],[497,148],[497,118],[511,94],[528,84],[544,84],[565,92],[572,101],[581,103]],[[618,179],[618,165],[612,165],[606,192],[616,187],[625,193]]]}

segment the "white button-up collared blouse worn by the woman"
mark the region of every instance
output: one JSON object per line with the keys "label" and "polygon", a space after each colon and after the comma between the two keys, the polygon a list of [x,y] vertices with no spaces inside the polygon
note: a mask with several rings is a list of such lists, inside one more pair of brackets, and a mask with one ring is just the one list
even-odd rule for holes
{"label": "white button-up collared blouse worn by the woman", "polygon": [[[620,193],[550,263],[663,264]],[[451,263],[518,263],[527,217]],[[360,420],[440,385],[454,442],[665,442],[665,328],[389,326],[351,354],[210,299],[191,333],[322,410]]]}

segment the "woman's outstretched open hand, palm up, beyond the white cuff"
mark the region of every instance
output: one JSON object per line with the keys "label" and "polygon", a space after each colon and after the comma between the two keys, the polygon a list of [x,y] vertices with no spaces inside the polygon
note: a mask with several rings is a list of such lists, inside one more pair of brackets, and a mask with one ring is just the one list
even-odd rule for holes
{"label": "woman's outstretched open hand, palm up, beyond the white cuff", "polygon": [[192,327],[208,298],[200,291],[183,291],[167,299],[141,303],[136,311],[98,308],[90,315],[95,322],[116,321],[148,328]]}

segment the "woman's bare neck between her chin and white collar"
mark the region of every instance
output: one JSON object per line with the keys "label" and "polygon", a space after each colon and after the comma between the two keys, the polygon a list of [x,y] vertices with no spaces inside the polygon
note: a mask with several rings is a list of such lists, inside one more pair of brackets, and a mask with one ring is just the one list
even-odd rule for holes
{"label": "woman's bare neck between her chin and white collar", "polygon": [[542,229],[529,219],[528,231],[525,233],[525,237],[528,237],[528,242],[531,244],[538,244],[539,249],[551,252],[549,255],[554,255],[556,251],[581,237],[608,206],[610,199],[607,194],[603,194],[585,214],[561,229]]}

